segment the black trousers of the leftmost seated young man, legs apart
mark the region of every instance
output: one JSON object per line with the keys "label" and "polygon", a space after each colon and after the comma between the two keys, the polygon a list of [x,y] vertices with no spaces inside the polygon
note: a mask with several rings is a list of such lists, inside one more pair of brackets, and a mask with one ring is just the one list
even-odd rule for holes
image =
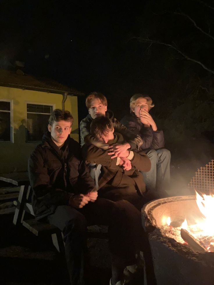
{"label": "black trousers of the leftmost seated young man, legs apart", "polygon": [[135,253],[142,250],[141,214],[126,200],[117,202],[97,198],[82,209],[58,206],[48,222],[64,235],[65,255],[72,285],[84,284],[84,257],[87,225],[108,225],[110,250],[124,267],[135,263]]}

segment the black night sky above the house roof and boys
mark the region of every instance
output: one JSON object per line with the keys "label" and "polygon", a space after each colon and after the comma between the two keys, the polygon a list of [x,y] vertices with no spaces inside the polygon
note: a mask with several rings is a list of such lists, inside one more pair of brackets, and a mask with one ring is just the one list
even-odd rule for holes
{"label": "black night sky above the house roof and boys", "polygon": [[[26,74],[55,79],[86,95],[101,92],[118,119],[129,112],[129,99],[136,92],[151,96],[159,106],[154,110],[166,117],[170,112],[161,109],[162,104],[167,102],[171,110],[178,96],[182,100],[188,88],[189,93],[195,88],[194,78],[203,81],[213,76],[168,47],[133,39],[140,36],[173,44],[212,69],[213,40],[187,17],[174,14],[182,11],[214,34],[214,9],[197,0],[122,4],[6,0],[0,8],[1,68],[11,68],[20,60]],[[78,100],[81,120],[87,110],[85,98]]]}

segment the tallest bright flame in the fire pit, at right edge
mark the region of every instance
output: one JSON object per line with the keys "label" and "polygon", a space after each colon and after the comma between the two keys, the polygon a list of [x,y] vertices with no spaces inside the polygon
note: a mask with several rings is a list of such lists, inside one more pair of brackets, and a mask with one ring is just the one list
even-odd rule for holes
{"label": "tallest bright flame in the fire pit, at right edge", "polygon": [[213,195],[202,195],[202,197],[196,193],[196,202],[201,214],[203,214],[204,222],[198,225],[203,230],[203,234],[207,236],[214,236],[214,196]]}

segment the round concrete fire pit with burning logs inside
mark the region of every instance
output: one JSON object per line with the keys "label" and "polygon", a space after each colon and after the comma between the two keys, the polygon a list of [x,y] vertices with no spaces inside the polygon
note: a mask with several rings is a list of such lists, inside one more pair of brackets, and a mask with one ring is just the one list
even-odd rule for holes
{"label": "round concrete fire pit with burning logs inside", "polygon": [[194,225],[196,220],[203,220],[201,216],[195,196],[158,199],[143,207],[142,225],[147,232],[157,285],[214,284],[214,252],[208,252],[206,242],[202,249],[192,249],[192,239],[188,245],[180,236],[185,219],[188,225]]}

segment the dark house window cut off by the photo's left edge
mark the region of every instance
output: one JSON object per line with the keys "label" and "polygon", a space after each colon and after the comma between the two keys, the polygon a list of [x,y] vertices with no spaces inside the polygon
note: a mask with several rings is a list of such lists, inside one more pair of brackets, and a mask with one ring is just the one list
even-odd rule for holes
{"label": "dark house window cut off by the photo's left edge", "polygon": [[8,101],[0,99],[0,141],[12,141],[11,137],[11,106]]}

